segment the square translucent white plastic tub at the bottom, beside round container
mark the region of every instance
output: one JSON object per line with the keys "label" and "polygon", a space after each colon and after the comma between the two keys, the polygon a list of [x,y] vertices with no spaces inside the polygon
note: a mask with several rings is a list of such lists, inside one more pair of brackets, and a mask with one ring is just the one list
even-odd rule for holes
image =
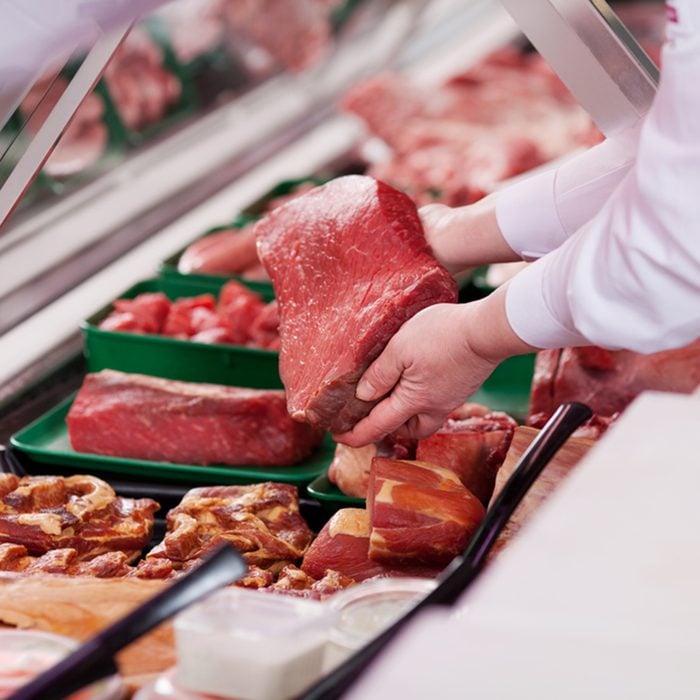
{"label": "square translucent white plastic tub at the bottom, beside round container", "polygon": [[333,609],[243,588],[221,591],[175,619],[177,683],[239,700],[284,700],[322,672]]}

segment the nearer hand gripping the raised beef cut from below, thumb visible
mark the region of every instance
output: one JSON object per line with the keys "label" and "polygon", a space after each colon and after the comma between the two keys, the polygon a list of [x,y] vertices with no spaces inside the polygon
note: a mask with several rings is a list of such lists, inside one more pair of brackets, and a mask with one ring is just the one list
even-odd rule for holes
{"label": "nearer hand gripping the raised beef cut from below, thumb visible", "polygon": [[338,442],[361,447],[397,433],[422,438],[471,396],[506,357],[534,348],[511,329],[505,288],[470,304],[435,304],[401,326],[356,390],[377,403]]}

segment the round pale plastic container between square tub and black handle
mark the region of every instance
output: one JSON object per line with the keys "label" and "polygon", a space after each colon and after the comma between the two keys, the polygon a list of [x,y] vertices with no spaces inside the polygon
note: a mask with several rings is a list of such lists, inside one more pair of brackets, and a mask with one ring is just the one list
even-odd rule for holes
{"label": "round pale plastic container between square tub and black handle", "polygon": [[324,673],[371,642],[436,586],[432,579],[383,578],[333,596],[328,605],[335,611],[336,621],[326,646]]}

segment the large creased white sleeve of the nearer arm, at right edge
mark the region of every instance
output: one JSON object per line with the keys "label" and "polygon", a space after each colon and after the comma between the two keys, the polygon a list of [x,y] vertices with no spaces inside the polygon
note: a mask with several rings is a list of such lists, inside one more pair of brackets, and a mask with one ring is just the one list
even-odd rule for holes
{"label": "large creased white sleeve of the nearer arm, at right edge", "polygon": [[507,290],[514,331],[536,347],[649,353],[700,337],[700,2],[670,9],[678,23],[634,167],[599,214]]}

